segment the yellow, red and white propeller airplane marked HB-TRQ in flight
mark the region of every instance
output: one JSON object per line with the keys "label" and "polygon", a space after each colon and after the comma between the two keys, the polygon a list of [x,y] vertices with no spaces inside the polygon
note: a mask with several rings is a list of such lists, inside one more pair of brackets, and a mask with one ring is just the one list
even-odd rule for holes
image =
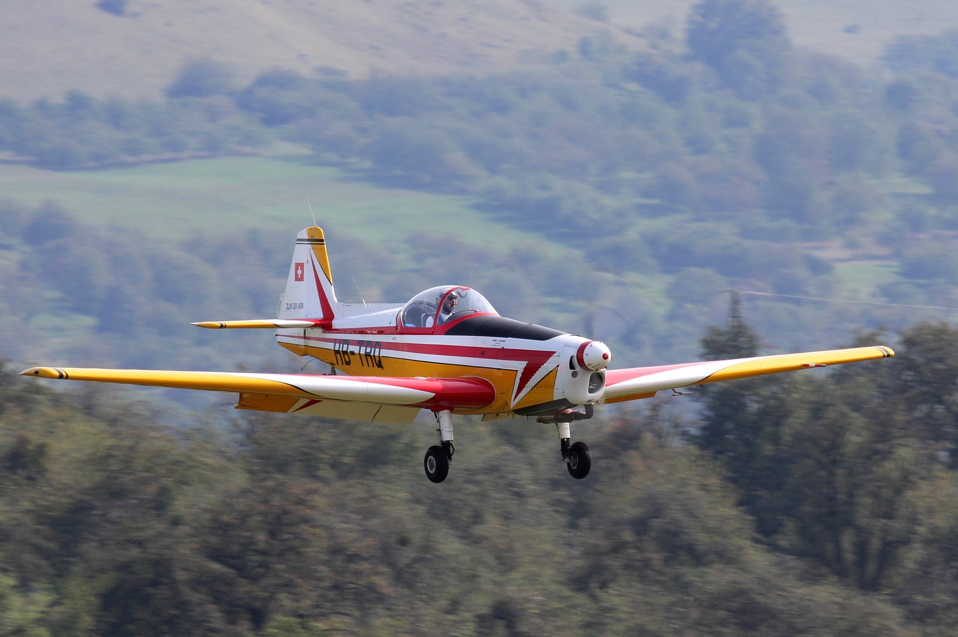
{"label": "yellow, red and white propeller airplane marked HB-TRQ in flight", "polygon": [[556,424],[562,460],[581,479],[592,458],[586,444],[571,442],[570,423],[591,418],[594,405],[895,355],[875,346],[611,370],[604,343],[499,316],[463,285],[432,287],[404,304],[340,303],[326,239],[315,226],[296,238],[276,318],[194,325],[275,330],[281,346],[328,363],[332,373],[34,367],[22,375],[235,392],[239,409],[356,421],[410,423],[427,409],[440,437],[423,461],[432,482],[445,480],[452,461],[453,414],[481,415],[483,421],[535,417]]}

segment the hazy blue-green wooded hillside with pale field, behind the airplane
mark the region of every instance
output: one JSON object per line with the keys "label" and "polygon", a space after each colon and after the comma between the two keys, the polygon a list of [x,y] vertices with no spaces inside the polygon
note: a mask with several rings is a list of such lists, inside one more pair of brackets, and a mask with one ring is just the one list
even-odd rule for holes
{"label": "hazy blue-green wooded hillside with pale field, behind the airplane", "polygon": [[[5,284],[34,300],[7,304],[11,325],[43,331],[64,316],[71,334],[6,330],[6,351],[216,365],[217,339],[182,326],[271,313],[307,199],[345,234],[334,267],[356,284],[343,294],[401,301],[439,280],[472,284],[518,318],[606,339],[624,363],[694,358],[728,289],[781,295],[746,297],[773,351],[953,316],[941,309],[958,307],[953,38],[896,40],[878,73],[796,48],[767,3],[700,3],[689,24],[686,41],[663,35],[641,53],[599,31],[501,74],[274,70],[236,88],[202,61],[163,102],[81,90],[2,101],[2,232],[19,273]],[[47,200],[84,245],[36,236]],[[130,256],[143,263],[131,270],[103,247],[136,231],[157,256]],[[85,279],[57,278],[55,245],[57,262],[87,263]],[[160,276],[172,254],[179,274]],[[223,267],[234,261],[241,281]],[[130,347],[139,336],[114,325],[117,309],[165,326],[191,356]]]}

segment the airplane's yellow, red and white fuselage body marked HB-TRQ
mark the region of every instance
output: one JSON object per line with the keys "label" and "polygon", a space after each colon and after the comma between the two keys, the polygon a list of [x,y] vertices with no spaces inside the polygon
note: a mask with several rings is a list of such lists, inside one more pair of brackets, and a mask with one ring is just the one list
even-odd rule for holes
{"label": "airplane's yellow, red and white fuselage body marked HB-TRQ", "polygon": [[473,314],[436,330],[404,330],[398,325],[279,330],[277,340],[286,349],[313,356],[347,375],[490,382],[495,399],[489,406],[457,413],[555,413],[598,400],[604,388],[604,370],[592,372],[577,361],[577,354],[593,341],[500,316]]}

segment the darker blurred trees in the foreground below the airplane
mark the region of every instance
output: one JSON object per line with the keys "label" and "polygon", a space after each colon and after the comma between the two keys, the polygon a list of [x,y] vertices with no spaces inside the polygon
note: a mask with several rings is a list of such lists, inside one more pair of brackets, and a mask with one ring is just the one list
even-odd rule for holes
{"label": "darker blurred trees in the foreground below the airplane", "polygon": [[[868,338],[874,338],[869,334]],[[157,423],[115,391],[0,375],[9,635],[947,635],[958,620],[958,330],[898,357],[655,398],[577,424],[239,414]],[[705,355],[751,353],[733,313]],[[460,440],[457,439],[457,442]]]}

